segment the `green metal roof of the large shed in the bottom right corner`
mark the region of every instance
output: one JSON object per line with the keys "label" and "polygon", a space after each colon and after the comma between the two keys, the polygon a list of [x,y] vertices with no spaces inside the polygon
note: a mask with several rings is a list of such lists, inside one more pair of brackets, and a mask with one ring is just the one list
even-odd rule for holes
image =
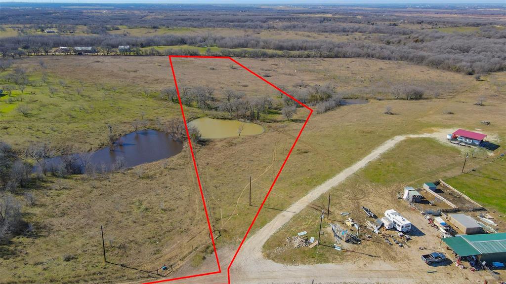
{"label": "green metal roof of the large shed in the bottom right corner", "polygon": [[459,235],[443,242],[458,256],[478,256],[487,263],[506,263],[506,233]]}

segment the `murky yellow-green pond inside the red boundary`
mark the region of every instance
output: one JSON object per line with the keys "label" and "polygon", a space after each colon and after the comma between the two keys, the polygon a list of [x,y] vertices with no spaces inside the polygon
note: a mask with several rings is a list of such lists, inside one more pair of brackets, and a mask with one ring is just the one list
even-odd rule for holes
{"label": "murky yellow-green pond inside the red boundary", "polygon": [[208,117],[192,120],[188,125],[196,127],[204,139],[236,137],[239,132],[240,136],[257,135],[265,131],[264,127],[255,123]]}

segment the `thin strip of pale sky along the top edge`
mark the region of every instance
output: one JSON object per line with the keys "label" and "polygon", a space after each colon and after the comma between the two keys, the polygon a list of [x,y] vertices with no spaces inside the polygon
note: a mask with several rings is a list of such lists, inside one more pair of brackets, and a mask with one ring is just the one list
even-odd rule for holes
{"label": "thin strip of pale sky along the top edge", "polygon": [[149,3],[149,4],[503,4],[506,0],[0,0],[28,3]]}

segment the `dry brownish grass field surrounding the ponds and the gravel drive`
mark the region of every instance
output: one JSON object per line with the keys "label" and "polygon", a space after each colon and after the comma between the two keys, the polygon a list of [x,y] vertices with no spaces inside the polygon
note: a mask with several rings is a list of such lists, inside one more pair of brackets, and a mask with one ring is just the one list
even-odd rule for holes
{"label": "dry brownish grass field surrounding the ponds and the gravel drive", "polygon": [[[107,122],[118,132],[126,133],[133,130],[130,123],[142,112],[150,119],[151,127],[155,127],[157,117],[165,120],[180,115],[179,105],[157,99],[162,88],[173,86],[166,57],[61,56],[30,58],[16,63],[33,69],[33,76],[40,76],[41,71],[37,69],[40,59],[47,65],[45,72],[49,84],[58,86],[58,80],[64,79],[72,86],[67,89],[73,90],[81,81],[86,95],[61,91],[50,98],[48,86],[35,87],[36,94],[26,94],[23,101],[29,102],[33,109],[29,117],[12,107],[6,111],[10,104],[0,103],[0,122],[8,126],[0,128],[0,135],[20,151],[31,141],[52,141],[55,147],[71,143],[78,149],[97,149],[106,144]],[[476,81],[471,76],[393,61],[236,60],[278,86],[296,88],[301,81],[307,84],[335,82],[338,92],[346,97],[369,99],[365,105],[343,106],[313,115],[254,230],[395,135],[433,132],[436,128],[467,128],[480,129],[499,145],[504,145],[506,139],[506,93],[502,88],[505,73],[490,74]],[[226,88],[243,91],[248,96],[278,96],[277,91],[262,85],[260,79],[232,68],[232,62],[201,60],[206,61],[202,64],[196,61],[174,60],[180,86],[214,86],[217,96]],[[105,87],[97,88],[95,83]],[[393,100],[389,90],[396,84],[423,87],[427,90],[427,98]],[[145,88],[149,89],[148,93]],[[436,92],[437,99],[434,98]],[[485,106],[474,105],[479,97],[486,98]],[[391,106],[395,115],[383,114],[386,106]],[[83,113],[82,117],[72,118],[68,113],[78,113],[73,111],[76,107],[90,110],[91,115]],[[454,114],[445,114],[449,111]],[[185,108],[185,112],[190,118],[215,115],[194,108]],[[221,230],[222,236],[217,239],[219,253],[221,249],[235,247],[242,238],[247,221],[258,209],[256,206],[272,183],[306,116],[307,113],[300,110],[297,119],[285,121],[280,114],[272,114],[259,122],[266,128],[263,134],[213,140],[194,149],[210,219]],[[483,125],[482,120],[491,124]],[[502,147],[496,152],[501,151]],[[418,184],[426,178],[454,173],[463,155],[458,149],[433,140],[406,141],[399,149],[387,153],[385,160],[376,161],[342,187],[335,188],[334,196],[346,198],[336,201],[332,212],[357,211],[353,208],[365,204],[355,201],[376,190],[383,195],[380,203],[390,202],[401,185]],[[418,163],[411,164],[411,160]],[[472,164],[481,165],[487,161],[488,158]],[[387,172],[384,176],[373,174],[382,172],[382,163],[393,163],[400,172]],[[252,203],[255,206],[248,206],[249,176],[253,179]],[[355,192],[357,188],[359,191]],[[83,176],[71,176],[62,181],[49,178],[35,195],[37,204],[25,207],[25,219],[34,224],[38,234],[34,238],[21,236],[12,240],[7,249],[12,253],[2,260],[0,267],[0,274],[9,275],[6,282],[37,282],[37,279],[62,283],[117,282],[139,276],[103,264],[98,234],[101,224],[105,226],[110,258],[121,263],[146,269],[162,263],[195,267],[203,257],[214,257],[208,247],[188,148],[170,159],[141,165],[125,173],[107,174],[97,180]],[[317,206],[321,205],[320,201]],[[346,203],[352,205],[342,209]],[[379,212],[384,209],[382,204],[370,207]],[[401,206],[404,205],[399,204],[399,208]],[[280,246],[285,234],[293,233],[302,225],[314,227],[314,214],[317,214],[314,209],[307,209],[294,218],[289,229],[281,230],[267,244],[266,255],[286,263],[297,256],[307,256],[301,250],[281,257],[273,249]],[[393,258],[393,253],[381,249],[372,252]],[[66,262],[64,254],[74,255],[76,259]],[[350,255],[333,251],[321,254],[325,257],[311,258],[310,262],[350,259]],[[26,269],[30,273],[26,273]]]}

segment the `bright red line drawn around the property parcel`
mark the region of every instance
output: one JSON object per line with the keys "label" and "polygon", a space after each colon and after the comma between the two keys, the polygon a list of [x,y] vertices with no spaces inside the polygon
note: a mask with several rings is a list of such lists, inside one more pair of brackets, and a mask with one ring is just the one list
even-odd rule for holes
{"label": "bright red line drawn around the property parcel", "polygon": [[262,201],[262,204],[260,205],[258,211],[257,211],[257,214],[255,215],[255,217],[253,218],[253,220],[251,221],[251,223],[249,224],[249,227],[246,231],[246,233],[244,234],[244,237],[242,238],[241,240],[241,243],[239,245],[239,247],[237,248],[237,251],[235,252],[234,254],[234,257],[232,258],[232,260],[230,261],[228,267],[227,267],[227,277],[228,277],[228,284],[230,284],[230,268],[232,267],[232,264],[234,263],[234,260],[235,258],[237,257],[238,253],[239,253],[239,250],[241,249],[242,245],[244,244],[248,234],[249,234],[249,231],[251,230],[251,228],[253,227],[253,225],[255,224],[255,221],[257,220],[257,217],[258,215],[260,214],[260,211],[262,210],[262,208],[264,207],[264,204],[265,202],[267,201],[267,198],[269,197],[271,191],[272,191],[272,188],[274,187],[274,184],[276,183],[276,181],[278,180],[278,177],[279,175],[281,174],[281,171],[283,170],[286,162],[288,161],[288,157],[290,157],[290,154],[291,152],[293,151],[293,148],[295,147],[295,145],[297,144],[297,141],[299,140],[299,137],[301,136],[302,134],[302,131],[304,130],[304,128],[306,127],[308,121],[309,121],[309,118],[311,117],[311,115],[313,114],[313,110],[311,108],[309,108],[308,106],[306,106],[305,104],[301,103],[299,100],[297,100],[296,98],[293,98],[292,96],[290,96],[288,93],[286,93],[285,91],[283,91],[282,89],[278,88],[276,85],[274,85],[273,83],[267,81],[265,78],[263,78],[262,76],[258,75],[257,73],[251,71],[249,68],[247,68],[246,66],[240,64],[239,62],[237,62],[235,59],[231,58],[231,57],[225,57],[225,56],[185,56],[185,55],[170,55],[168,56],[168,60],[171,64],[171,70],[172,70],[172,75],[173,75],[173,78],[174,78],[174,84],[176,86],[176,92],[178,94],[178,99],[179,99],[179,106],[181,108],[181,115],[183,116],[183,121],[184,121],[184,124],[185,124],[185,129],[186,129],[186,136],[188,137],[188,145],[190,146],[190,152],[191,152],[191,157],[192,157],[192,160],[193,160],[193,167],[195,169],[195,174],[197,176],[197,182],[198,182],[198,187],[199,187],[199,190],[200,190],[200,197],[202,198],[202,204],[204,206],[204,212],[205,212],[205,217],[207,219],[207,227],[209,229],[209,233],[210,233],[210,237],[211,237],[211,240],[213,242],[213,249],[214,249],[214,252],[215,252],[215,256],[216,256],[216,263],[218,264],[218,271],[214,271],[214,272],[207,272],[207,273],[202,273],[202,274],[195,274],[195,275],[189,275],[189,276],[183,276],[183,277],[177,277],[177,278],[171,278],[171,279],[164,279],[164,280],[157,280],[157,281],[152,281],[152,282],[145,282],[143,284],[155,284],[155,283],[160,283],[160,282],[168,282],[168,281],[175,281],[175,280],[181,280],[181,279],[187,279],[187,278],[193,278],[193,277],[200,277],[200,276],[205,276],[205,275],[212,275],[212,274],[219,274],[219,273],[222,273],[222,269],[221,269],[221,266],[220,266],[220,260],[218,259],[218,253],[216,251],[216,244],[215,244],[215,239],[214,239],[214,235],[213,235],[213,230],[211,228],[211,223],[209,221],[209,215],[207,213],[207,207],[205,205],[205,199],[204,199],[204,194],[203,194],[203,191],[202,191],[202,184],[200,182],[200,177],[198,175],[198,169],[197,169],[197,162],[195,161],[195,155],[193,153],[193,147],[192,147],[192,144],[191,144],[191,139],[190,139],[190,133],[188,131],[188,125],[186,123],[186,118],[185,118],[185,112],[183,110],[183,103],[181,101],[181,96],[179,94],[179,87],[178,87],[178,82],[177,82],[177,79],[176,79],[176,72],[174,71],[174,65],[172,63],[172,59],[173,58],[207,58],[207,59],[228,59],[228,60],[231,60],[232,62],[234,62],[235,64],[239,65],[240,67],[242,67],[243,69],[245,69],[246,71],[248,71],[249,73],[255,75],[256,77],[260,78],[262,81],[264,81],[265,83],[269,84],[270,86],[274,87],[275,89],[277,89],[278,91],[280,91],[281,93],[285,94],[285,96],[288,96],[290,99],[292,99],[293,101],[297,102],[298,104],[300,104],[301,106],[303,106],[304,108],[306,108],[307,110],[309,110],[309,115],[308,117],[306,118],[306,120],[304,121],[304,124],[301,128],[301,130],[299,131],[299,134],[297,135],[297,137],[295,138],[295,141],[293,141],[293,145],[291,146],[290,148],[290,151],[288,152],[288,155],[286,155],[286,158],[284,159],[283,161],[283,164],[281,165],[281,168],[279,169],[276,177],[274,178],[274,181],[272,182],[272,185],[270,186],[269,188],[269,191],[267,192],[264,200]]}

